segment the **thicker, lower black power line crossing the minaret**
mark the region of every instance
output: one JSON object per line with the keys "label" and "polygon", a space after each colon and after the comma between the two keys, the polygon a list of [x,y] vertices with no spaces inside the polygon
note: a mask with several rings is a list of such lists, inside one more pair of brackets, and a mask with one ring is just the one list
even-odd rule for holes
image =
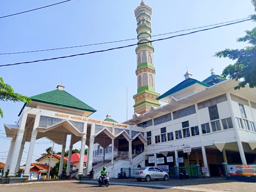
{"label": "thicker, lower black power line crossing the minaret", "polygon": [[115,49],[122,49],[122,48],[131,47],[131,46],[135,46],[135,45],[147,44],[147,43],[150,43],[150,42],[166,40],[166,39],[170,39],[170,38],[174,38],[174,37],[178,37],[178,36],[184,36],[184,35],[189,35],[189,34],[201,32],[201,31],[211,30],[211,29],[214,29],[214,28],[219,28],[219,27],[223,27],[223,26],[233,25],[233,24],[237,24],[237,23],[245,22],[245,21],[249,21],[249,20],[252,20],[252,19],[242,20],[242,21],[238,21],[238,22],[234,22],[234,23],[229,23],[229,24],[225,24],[225,25],[220,25],[220,26],[212,27],[212,28],[207,28],[207,29],[202,29],[202,30],[198,30],[198,31],[193,31],[193,32],[190,32],[190,33],[180,34],[180,35],[176,35],[176,36],[170,36],[170,37],[167,37],[167,38],[156,39],[156,40],[152,40],[152,41],[148,41],[148,42],[143,42],[143,43],[136,43],[136,44],[131,44],[131,45],[127,45],[127,46],[110,48],[110,49],[106,49],[106,50],[93,51],[93,52],[88,52],[88,53],[75,54],[75,55],[70,55],[70,56],[62,56],[62,57],[56,57],[56,58],[50,58],[50,59],[42,59],[42,60],[36,60],[36,61],[28,61],[28,62],[20,62],[20,63],[14,63],[14,64],[5,64],[5,65],[0,65],[0,67],[19,65],[19,64],[27,64],[27,63],[34,63],[34,62],[40,62],[40,61],[55,60],[55,59],[61,59],[61,58],[68,58],[68,57],[74,57],[74,56],[80,56],[80,55],[93,54],[93,53],[98,53],[98,52],[106,52],[106,51],[115,50]]}

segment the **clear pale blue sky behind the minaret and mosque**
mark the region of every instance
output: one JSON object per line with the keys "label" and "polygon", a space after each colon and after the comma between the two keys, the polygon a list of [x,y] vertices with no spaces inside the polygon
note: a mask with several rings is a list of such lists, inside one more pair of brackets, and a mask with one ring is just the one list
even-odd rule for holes
{"label": "clear pale blue sky behind the minaret and mosque", "polygon": [[[1,0],[0,17],[58,2],[61,0]],[[152,35],[228,22],[255,13],[250,0],[145,0],[145,3],[152,8]],[[134,10],[139,5],[140,0],[72,0],[1,18],[0,53],[136,38]],[[247,21],[153,42],[156,92],[163,94],[183,81],[187,68],[193,74],[192,78],[200,81],[210,76],[211,68],[214,68],[216,74],[221,74],[224,67],[234,61],[215,58],[214,53],[225,48],[243,48],[246,44],[237,43],[236,38],[244,36],[245,30],[254,27],[254,22]],[[186,32],[156,36],[152,40],[182,33]],[[0,55],[0,65],[69,56],[136,42],[137,40],[130,40],[80,48]],[[114,120],[124,122],[134,114],[132,96],[137,93],[135,48],[133,46],[84,56],[3,66],[0,67],[0,76],[16,92],[26,96],[54,90],[62,80],[66,92],[97,110],[91,118],[104,120],[109,112]],[[14,124],[23,103],[1,101],[0,106],[4,111],[4,118],[0,119],[0,136],[6,136],[3,124]],[[5,162],[10,140],[0,138],[0,142],[0,161]],[[42,144],[44,142],[47,143]],[[52,146],[49,140],[38,140],[33,160],[49,146]],[[67,150],[69,145],[66,146]],[[28,152],[28,147],[25,144],[25,152]],[[74,145],[74,148],[80,148],[80,143]],[[61,151],[61,146],[55,145],[54,150]],[[25,164],[25,152],[21,164]]]}

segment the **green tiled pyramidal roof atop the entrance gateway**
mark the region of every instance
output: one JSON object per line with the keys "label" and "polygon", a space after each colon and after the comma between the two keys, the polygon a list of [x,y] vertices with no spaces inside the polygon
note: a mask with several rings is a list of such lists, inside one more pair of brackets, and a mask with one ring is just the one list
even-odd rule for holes
{"label": "green tiled pyramidal roof atop the entrance gateway", "polygon": [[64,90],[56,89],[53,91],[48,91],[42,94],[32,96],[30,97],[30,99],[35,102],[89,111],[93,113],[97,111]]}

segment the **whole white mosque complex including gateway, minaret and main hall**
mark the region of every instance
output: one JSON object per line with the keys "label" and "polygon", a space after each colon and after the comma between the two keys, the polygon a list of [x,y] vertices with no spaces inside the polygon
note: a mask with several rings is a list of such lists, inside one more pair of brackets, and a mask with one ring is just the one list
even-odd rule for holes
{"label": "whole white mosque complex including gateway, minaret and main hall", "polygon": [[[78,176],[87,175],[92,168],[94,175],[100,175],[102,166],[106,166],[110,178],[116,178],[120,168],[196,164],[204,168],[203,176],[216,176],[223,162],[256,162],[256,89],[246,85],[234,90],[238,81],[223,79],[212,70],[202,81],[187,71],[184,81],[166,88],[164,94],[156,93],[150,42],[152,9],[142,0],[134,13],[138,46],[132,118],[122,123],[110,114],[105,120],[92,119],[89,116],[96,110],[59,84],[56,90],[32,96],[17,124],[4,124],[6,136],[12,138],[4,172],[9,168],[9,175],[14,176],[24,143],[30,142],[24,170],[28,177],[35,142],[42,137],[62,145],[62,166],[67,135],[71,138],[70,152],[78,141],[80,155],[88,147],[87,167],[84,169],[80,160]],[[159,101],[166,104],[160,106]],[[70,162],[71,154],[67,169]]]}

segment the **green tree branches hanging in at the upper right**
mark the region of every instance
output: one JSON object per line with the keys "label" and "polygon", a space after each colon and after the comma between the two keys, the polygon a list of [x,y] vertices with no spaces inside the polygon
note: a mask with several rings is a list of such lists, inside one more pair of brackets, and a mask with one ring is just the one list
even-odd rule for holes
{"label": "green tree branches hanging in at the upper right", "polygon": [[[256,0],[251,0],[254,10],[256,11]],[[252,21],[256,22],[256,15],[250,16]],[[243,49],[225,49],[216,52],[214,56],[218,58],[229,58],[236,60],[222,71],[224,78],[241,80],[234,89],[240,89],[249,84],[250,88],[256,87],[256,28],[246,30],[246,36],[238,38],[237,42],[248,42],[248,46]]]}

